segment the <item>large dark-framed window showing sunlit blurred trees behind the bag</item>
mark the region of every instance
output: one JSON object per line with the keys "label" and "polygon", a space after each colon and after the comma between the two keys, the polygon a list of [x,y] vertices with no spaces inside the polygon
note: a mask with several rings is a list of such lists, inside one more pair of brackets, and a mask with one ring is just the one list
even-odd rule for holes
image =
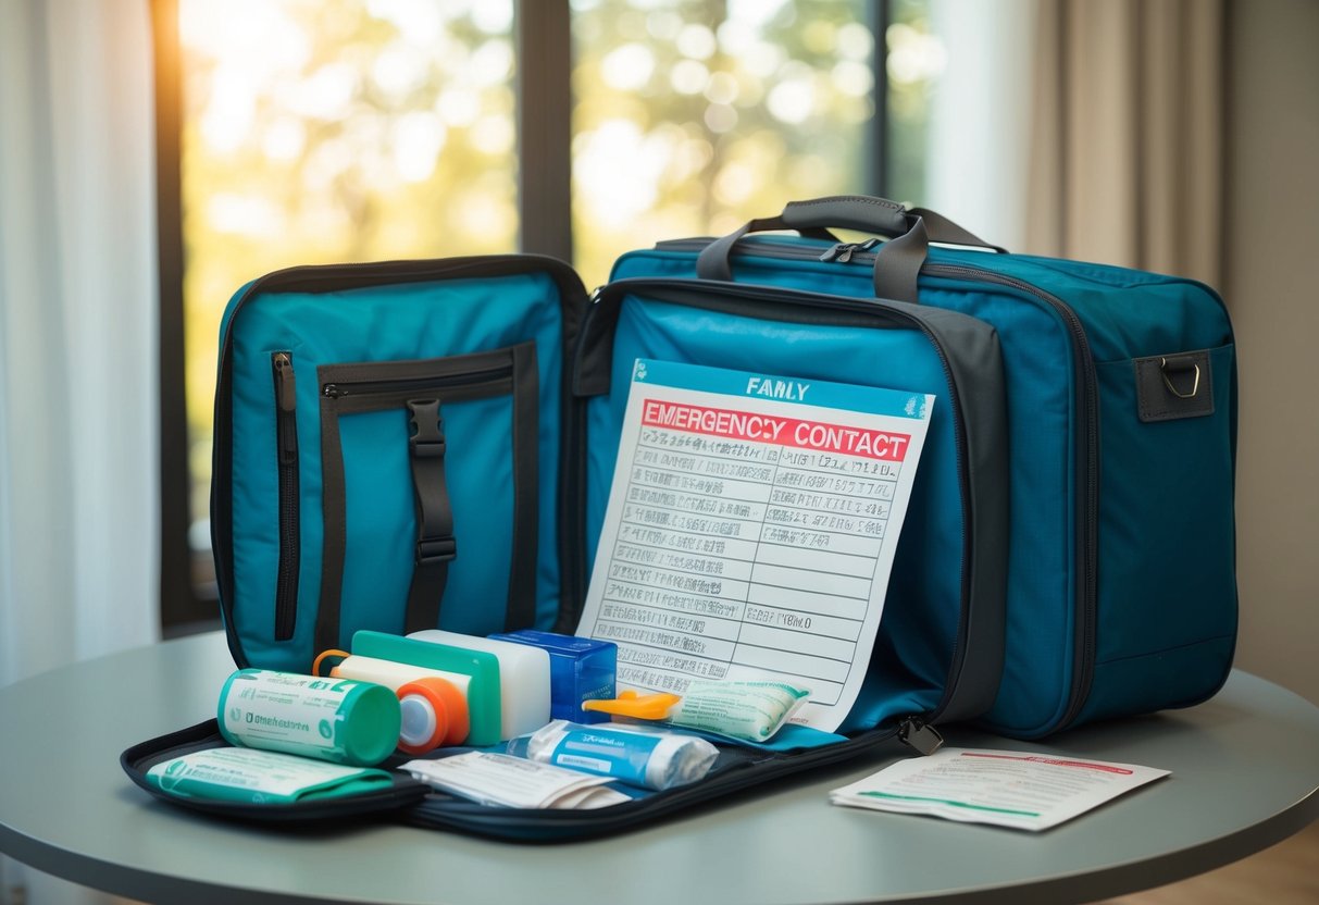
{"label": "large dark-framed window showing sunlit blurred trees behind the bag", "polygon": [[[595,285],[628,248],[881,190],[886,160],[900,195],[919,190],[927,73],[885,58],[910,63],[929,37],[923,0],[177,3],[187,512],[203,584],[219,321],[248,280],[513,252],[534,218],[536,235],[567,232],[534,251],[571,248]],[[893,129],[890,100],[905,117]],[[532,123],[562,128],[528,135]],[[570,168],[562,193],[541,185]],[[185,530],[170,522],[168,536]],[[179,588],[162,590],[169,623]]]}

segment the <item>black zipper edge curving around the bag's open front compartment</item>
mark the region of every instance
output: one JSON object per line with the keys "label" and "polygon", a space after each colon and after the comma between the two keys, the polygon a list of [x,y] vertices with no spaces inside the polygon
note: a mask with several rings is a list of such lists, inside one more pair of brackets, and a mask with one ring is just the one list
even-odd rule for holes
{"label": "black zipper edge curving around the bag's open front compartment", "polygon": [[[971,584],[969,575],[967,573],[967,563],[971,562],[971,550],[973,546],[973,529],[971,513],[967,509],[967,500],[971,496],[971,476],[969,468],[967,467],[967,426],[966,416],[962,408],[962,397],[958,389],[958,383],[954,379],[952,368],[948,365],[948,352],[943,347],[939,336],[934,334],[927,325],[922,323],[919,318],[913,317],[910,313],[904,311],[897,307],[878,307],[874,302],[864,298],[844,298],[839,296],[826,296],[822,293],[810,293],[798,289],[778,289],[774,286],[758,286],[753,284],[729,284],[729,282],[715,282],[715,281],[702,281],[694,284],[690,280],[650,280],[645,277],[619,280],[617,282],[609,284],[603,290],[598,290],[596,301],[604,294],[627,293],[627,292],[649,292],[661,298],[661,301],[670,301],[679,305],[689,305],[692,307],[700,307],[700,302],[704,297],[715,294],[724,296],[729,299],[753,299],[761,302],[774,302],[777,305],[783,305],[785,301],[793,305],[803,305],[806,307],[826,309],[847,311],[852,314],[861,314],[868,318],[874,318],[880,321],[897,321],[905,327],[914,327],[930,340],[931,347],[939,356],[939,365],[943,368],[943,381],[948,388],[948,402],[952,410],[952,423],[954,423],[954,447],[956,452],[958,463],[958,489],[962,501],[962,559],[959,562],[960,575],[962,575],[962,590],[960,590],[960,606],[958,608],[958,632],[956,640],[954,642],[951,665],[948,669],[948,681],[944,685],[944,695],[939,704],[922,716],[909,716],[904,723],[933,723],[938,720],[944,704],[950,699],[950,691],[958,686],[958,681],[962,675],[962,665],[966,660],[964,641],[967,633],[967,623],[969,620],[971,611]],[[708,303],[707,303],[708,306]],[[729,306],[736,309],[737,305]],[[590,314],[595,314],[599,310],[599,305],[592,306]],[[765,310],[757,307],[754,311],[740,311],[748,317],[754,317],[758,319],[772,319],[766,318]],[[588,314],[588,319],[590,319]],[[591,335],[590,328],[583,328],[580,335],[580,342],[586,342],[587,336]],[[919,745],[917,749],[921,749]]]}

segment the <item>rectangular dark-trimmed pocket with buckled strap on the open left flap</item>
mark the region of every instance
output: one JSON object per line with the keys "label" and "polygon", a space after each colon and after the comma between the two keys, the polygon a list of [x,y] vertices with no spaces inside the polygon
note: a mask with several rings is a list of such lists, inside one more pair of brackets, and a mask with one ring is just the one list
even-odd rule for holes
{"label": "rectangular dark-trimmed pocket with buckled strap on the open left flap", "polygon": [[323,364],[317,379],[324,520],[317,650],[343,648],[359,629],[487,635],[530,625],[536,343]]}

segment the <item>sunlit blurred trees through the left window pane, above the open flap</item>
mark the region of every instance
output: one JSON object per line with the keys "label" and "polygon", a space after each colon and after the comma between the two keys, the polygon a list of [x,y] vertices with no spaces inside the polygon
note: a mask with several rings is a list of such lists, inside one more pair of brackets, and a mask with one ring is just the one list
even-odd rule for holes
{"label": "sunlit blurred trees through the left window pane, above the open flap", "polygon": [[297,264],[508,252],[512,0],[181,0],[194,520],[220,315]]}

